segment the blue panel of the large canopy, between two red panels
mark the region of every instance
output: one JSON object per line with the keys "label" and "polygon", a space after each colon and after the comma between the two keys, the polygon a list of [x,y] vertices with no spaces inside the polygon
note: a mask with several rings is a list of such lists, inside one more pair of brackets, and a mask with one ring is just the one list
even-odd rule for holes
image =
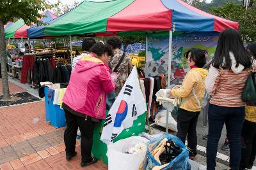
{"label": "blue panel of the large canopy, between two red panels", "polygon": [[161,0],[166,8],[172,10],[174,31],[214,31],[214,18],[205,17],[183,6],[178,0]]}

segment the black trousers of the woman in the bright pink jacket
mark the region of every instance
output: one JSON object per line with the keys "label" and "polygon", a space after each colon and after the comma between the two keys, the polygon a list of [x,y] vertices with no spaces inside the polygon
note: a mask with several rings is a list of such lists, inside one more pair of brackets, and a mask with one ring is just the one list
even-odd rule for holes
{"label": "black trousers of the woman in the bright pink jacket", "polygon": [[76,136],[79,127],[81,131],[81,154],[83,162],[92,161],[93,129],[95,122],[73,115],[65,110],[67,128],[64,133],[66,154],[72,154],[76,150]]}

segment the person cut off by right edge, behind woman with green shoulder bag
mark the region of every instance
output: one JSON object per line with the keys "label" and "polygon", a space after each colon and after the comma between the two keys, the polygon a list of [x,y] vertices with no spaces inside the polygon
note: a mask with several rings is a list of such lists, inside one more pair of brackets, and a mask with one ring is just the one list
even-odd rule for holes
{"label": "person cut off by right edge, behind woman with green shoulder bag", "polygon": [[[256,60],[256,42],[247,46]],[[253,68],[256,69],[255,60]],[[247,103],[245,107],[245,120],[243,124],[242,134],[242,157],[240,169],[252,169],[253,162],[256,157],[256,103]]]}

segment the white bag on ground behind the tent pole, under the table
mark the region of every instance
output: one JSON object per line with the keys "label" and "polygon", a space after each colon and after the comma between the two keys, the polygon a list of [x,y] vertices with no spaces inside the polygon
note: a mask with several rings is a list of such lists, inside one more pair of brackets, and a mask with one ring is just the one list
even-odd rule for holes
{"label": "white bag on ground behind the tent pole, under the table", "polygon": [[[169,112],[168,114],[169,114],[168,129],[170,129],[173,132],[178,132],[177,122],[172,117],[172,114],[170,114]],[[166,110],[159,111],[159,113],[157,113],[155,118],[155,123],[157,125],[160,125],[161,127],[166,127]]]}

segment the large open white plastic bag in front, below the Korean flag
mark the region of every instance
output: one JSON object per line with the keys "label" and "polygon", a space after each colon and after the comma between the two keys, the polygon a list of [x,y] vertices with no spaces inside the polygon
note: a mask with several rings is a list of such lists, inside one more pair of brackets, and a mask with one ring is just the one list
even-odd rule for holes
{"label": "large open white plastic bag in front, below the Korean flag", "polygon": [[108,169],[109,170],[142,170],[146,152],[128,154],[130,148],[138,143],[147,143],[148,139],[140,136],[132,136],[108,145]]}

